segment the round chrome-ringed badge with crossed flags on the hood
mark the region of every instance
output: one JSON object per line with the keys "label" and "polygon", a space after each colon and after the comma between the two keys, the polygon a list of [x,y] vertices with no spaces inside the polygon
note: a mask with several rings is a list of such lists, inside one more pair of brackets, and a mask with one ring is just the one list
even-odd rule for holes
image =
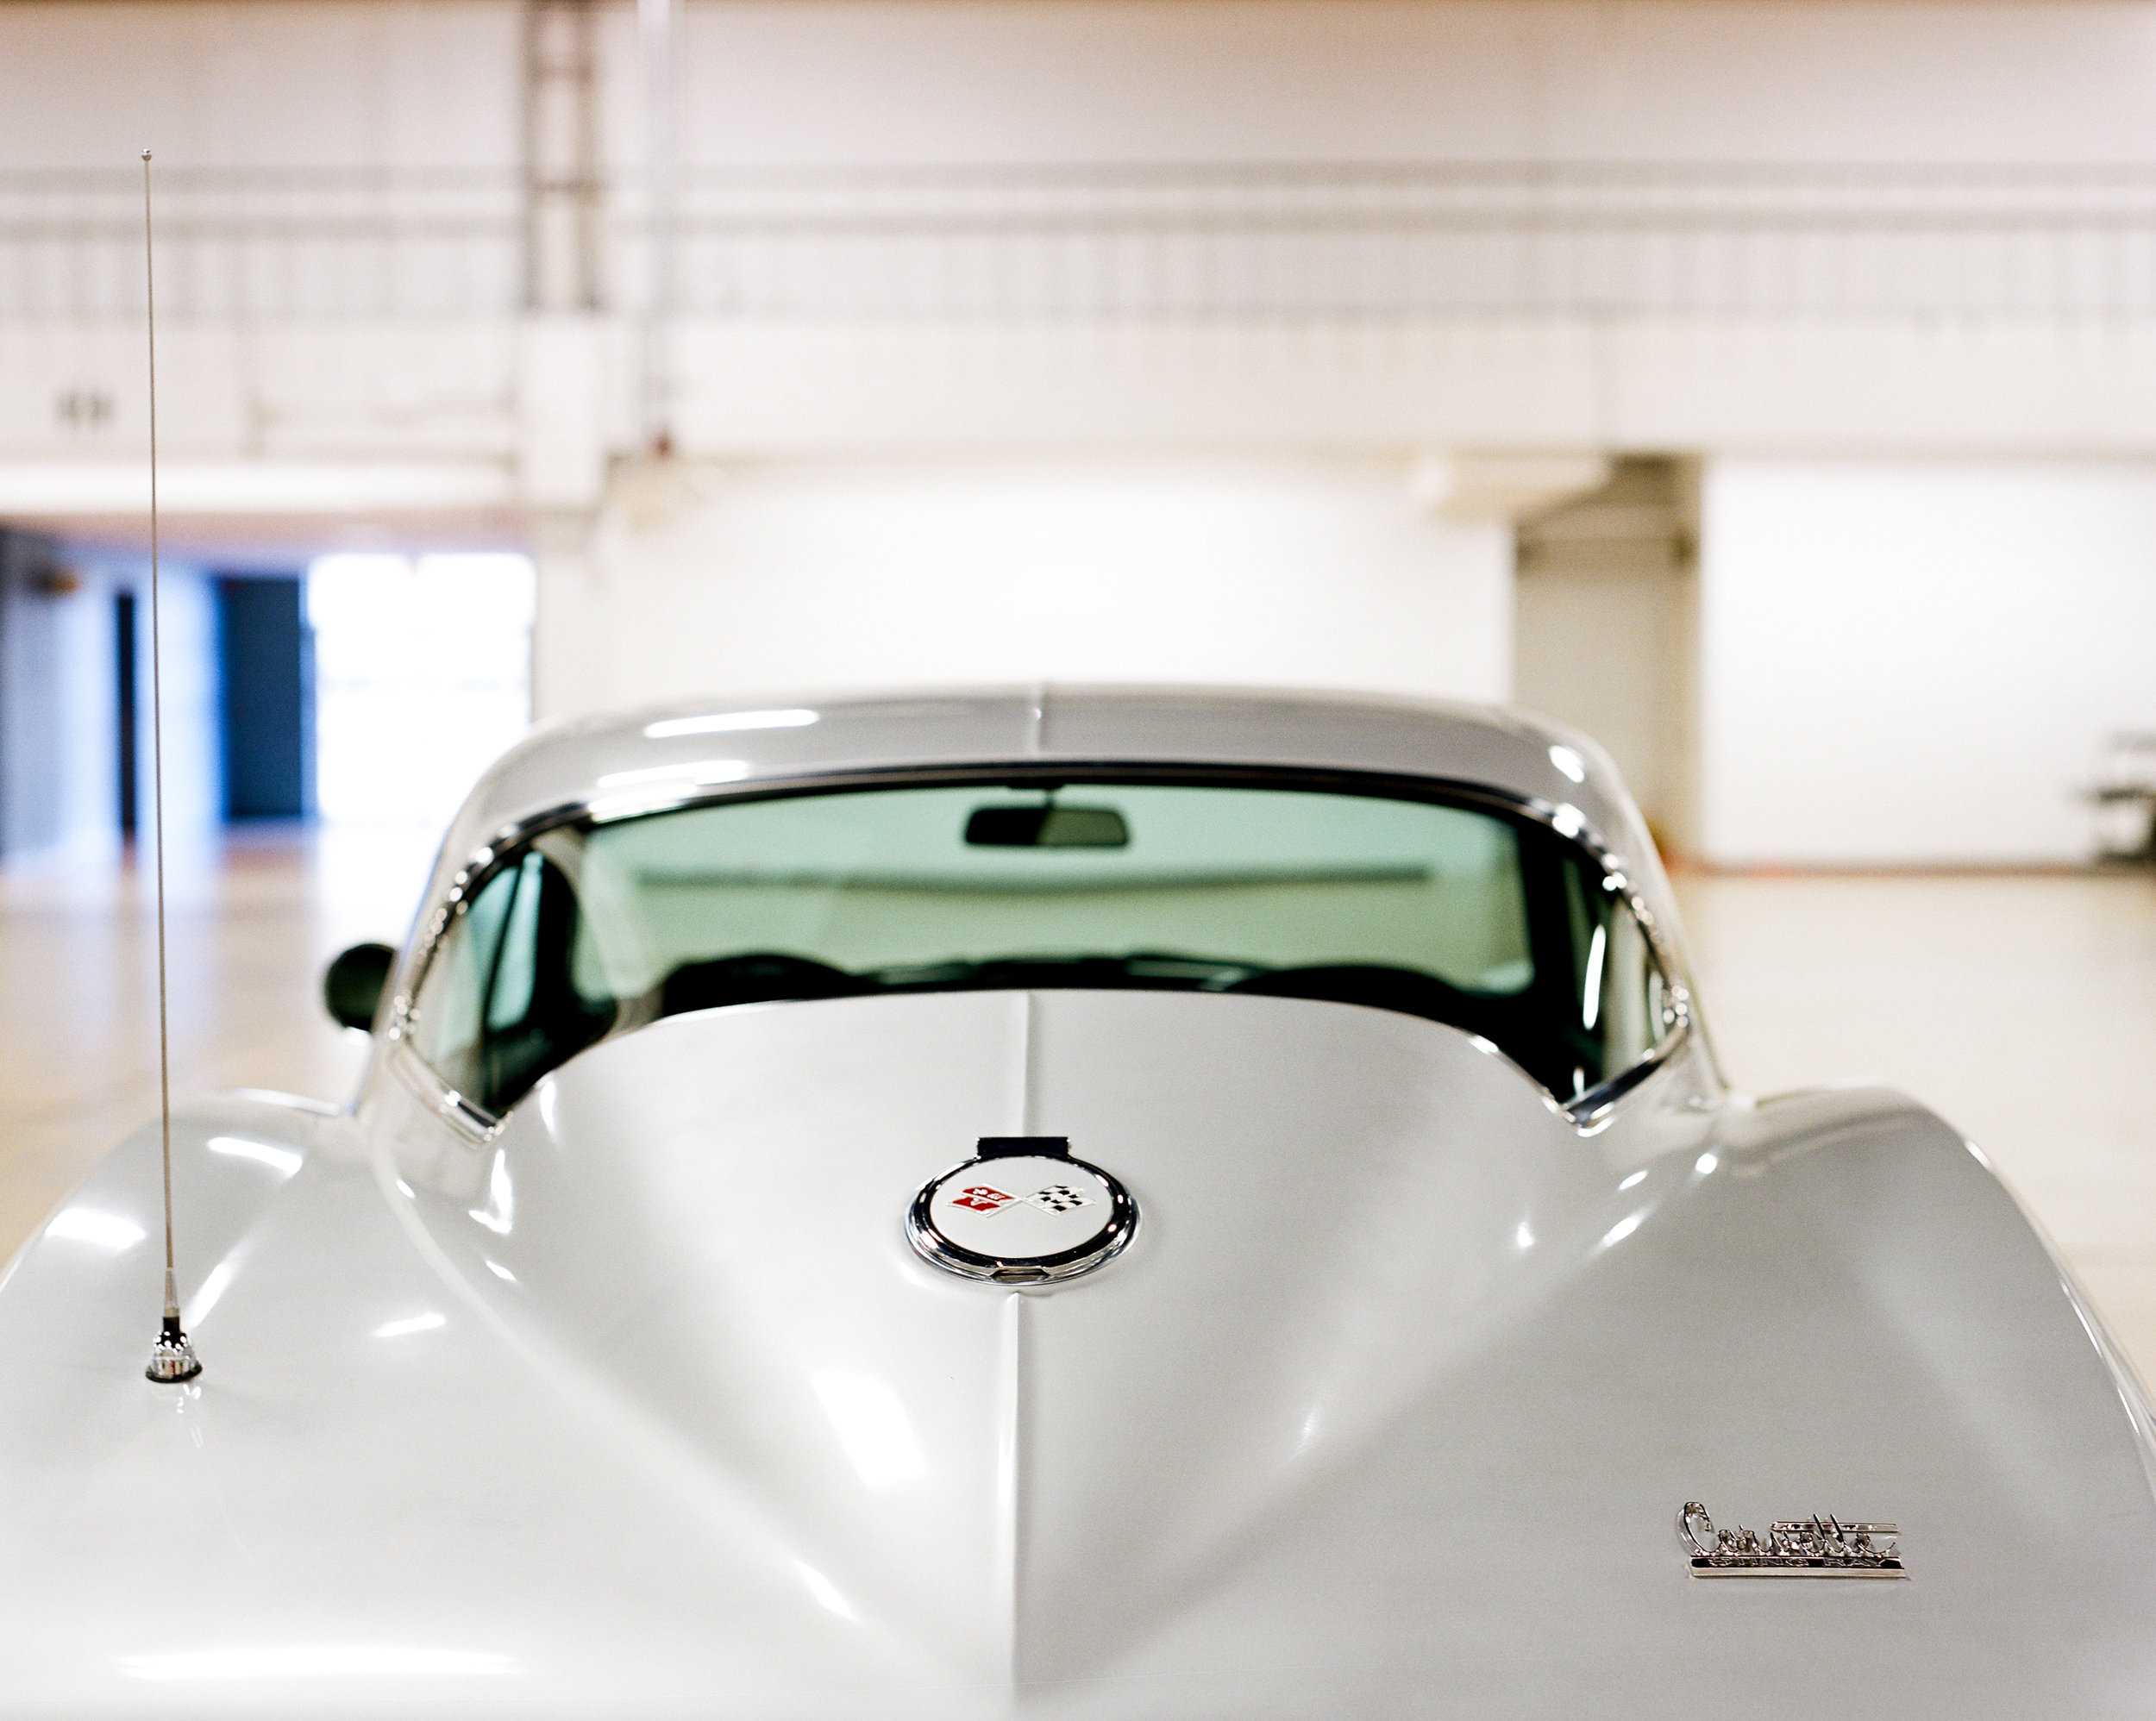
{"label": "round chrome-ringed badge with crossed flags on the hood", "polygon": [[1063,1137],[983,1137],[906,1214],[921,1259],[962,1279],[1039,1285],[1115,1259],[1138,1229],[1130,1190]]}

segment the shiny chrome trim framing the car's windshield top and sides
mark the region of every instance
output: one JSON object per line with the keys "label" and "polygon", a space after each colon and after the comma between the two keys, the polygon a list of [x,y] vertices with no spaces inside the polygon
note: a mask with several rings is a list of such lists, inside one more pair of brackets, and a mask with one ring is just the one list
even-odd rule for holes
{"label": "shiny chrome trim framing the car's windshield top and sides", "polygon": [[[470,901],[487,886],[487,882],[498,873],[511,858],[520,856],[524,848],[535,839],[543,837],[548,830],[558,830],[565,824],[617,824],[621,820],[640,820],[653,813],[677,813],[688,807],[718,807],[729,800],[783,800],[802,794],[832,794],[841,789],[884,789],[884,787],[962,787],[966,783],[996,785],[1009,783],[1013,776],[1039,779],[1056,776],[1065,783],[1188,783],[1192,787],[1214,785],[1214,787],[1268,787],[1268,789],[1307,789],[1313,794],[1363,794],[1378,796],[1384,800],[1423,800],[1436,804],[1464,804],[1464,807],[1490,807],[1501,813],[1514,813],[1526,817],[1563,841],[1578,848],[1583,854],[1591,856],[1598,867],[1602,867],[1602,886],[1615,893],[1626,908],[1632,910],[1632,919],[1639,930],[1647,936],[1647,947],[1654,951],[1654,960],[1662,970],[1662,979],[1669,986],[1669,1009],[1671,1027],[1660,1044],[1651,1046],[1634,1063],[1628,1063],[1608,1080],[1602,1080],[1570,1100],[1561,1100],[1539,1080],[1535,1080],[1526,1070],[1514,1063],[1496,1046],[1498,1057],[1505,1057],[1520,1076],[1535,1085],[1539,1093],[1565,1117],[1574,1128],[1587,1130],[1602,1121],[1602,1117],[1639,1087],[1647,1076],[1669,1063],[1671,1055],[1690,1042],[1692,1037],[1692,990],[1684,966],[1677,962],[1677,951],[1669,945],[1662,925],[1656,921],[1654,910],[1632,886],[1626,876],[1623,858],[1611,850],[1606,841],[1587,824],[1587,815],[1576,807],[1557,807],[1554,802],[1539,800],[1535,796],[1516,794],[1511,789],[1498,789],[1490,783],[1473,783],[1453,776],[1414,776],[1410,772],[1378,772],[1378,770],[1350,770],[1339,766],[1250,766],[1250,763],[1207,763],[1203,759],[1190,761],[1166,761],[1166,759],[1007,759],[1000,763],[951,763],[951,766],[895,766],[895,768],[871,768],[871,770],[843,770],[843,772],[802,772],[796,776],[761,776],[740,783],[711,785],[711,787],[683,787],[673,794],[651,794],[651,796],[586,796],[582,800],[567,800],[556,807],[548,807],[539,813],[530,813],[522,820],[505,824],[485,843],[481,843],[470,858],[451,876],[448,884],[442,889],[442,899],[427,912],[418,930],[418,949],[412,955],[410,979],[390,999],[388,1022],[382,1033],[392,1048],[401,1050],[403,1057],[392,1057],[390,1061],[399,1068],[410,1063],[425,1072],[425,1083],[416,1085],[423,1100],[429,1102],[440,1115],[448,1117],[459,1132],[464,1132],[474,1143],[485,1143],[496,1137],[502,1128],[502,1117],[489,1113],[485,1106],[474,1104],[451,1087],[440,1072],[433,1070],[420,1055],[418,1048],[410,1044],[412,1005],[418,999],[420,988],[427,983],[427,973],[433,966],[436,951],[442,938],[448,934],[451,921],[461,917]],[[1197,781],[1194,781],[1197,779]],[[608,1035],[612,1037],[612,1035]],[[1488,1042],[1485,1042],[1488,1044]],[[1705,1042],[1701,1042],[1705,1044]],[[1712,1059],[1712,1052],[1710,1052]],[[414,1074],[401,1068],[407,1083],[414,1083]]]}

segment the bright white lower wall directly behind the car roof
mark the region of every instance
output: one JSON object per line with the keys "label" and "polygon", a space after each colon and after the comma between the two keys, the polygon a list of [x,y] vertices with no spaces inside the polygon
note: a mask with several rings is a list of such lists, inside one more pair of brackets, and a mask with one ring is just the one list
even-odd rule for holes
{"label": "bright white lower wall directly behind the car roof", "polygon": [[1509,528],[1438,522],[1404,462],[804,462],[617,494],[589,559],[541,548],[541,716],[938,681],[1509,692]]}

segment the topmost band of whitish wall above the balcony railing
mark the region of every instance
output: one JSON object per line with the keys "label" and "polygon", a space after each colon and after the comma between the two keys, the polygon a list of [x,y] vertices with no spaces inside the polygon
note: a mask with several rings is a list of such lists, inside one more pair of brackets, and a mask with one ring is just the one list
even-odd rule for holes
{"label": "topmost band of whitish wall above the balcony railing", "polygon": [[[511,166],[515,0],[0,9],[0,160]],[[634,6],[604,149],[642,147]],[[690,4],[709,162],[2147,162],[2147,0]]]}

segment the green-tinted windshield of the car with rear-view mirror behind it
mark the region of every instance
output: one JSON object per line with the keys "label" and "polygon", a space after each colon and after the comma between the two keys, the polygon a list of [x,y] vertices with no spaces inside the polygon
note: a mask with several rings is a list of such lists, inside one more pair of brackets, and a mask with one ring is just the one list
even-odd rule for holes
{"label": "green-tinted windshield of the car with rear-view mirror behind it", "polygon": [[1561,1098],[1669,1029],[1639,923],[1539,824],[1300,787],[949,783],[550,830],[453,923],[414,1040],[498,1111],[668,1014],[1054,986],[1427,1016]]}

